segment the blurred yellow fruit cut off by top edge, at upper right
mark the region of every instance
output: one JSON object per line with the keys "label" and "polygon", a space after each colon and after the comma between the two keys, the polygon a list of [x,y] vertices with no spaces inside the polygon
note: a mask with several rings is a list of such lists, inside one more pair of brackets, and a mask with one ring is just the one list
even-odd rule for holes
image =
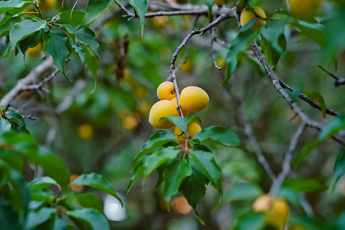
{"label": "blurred yellow fruit cut off by top edge, at upper right", "polygon": [[323,0],[288,0],[290,14],[295,17],[309,17],[317,13]]}

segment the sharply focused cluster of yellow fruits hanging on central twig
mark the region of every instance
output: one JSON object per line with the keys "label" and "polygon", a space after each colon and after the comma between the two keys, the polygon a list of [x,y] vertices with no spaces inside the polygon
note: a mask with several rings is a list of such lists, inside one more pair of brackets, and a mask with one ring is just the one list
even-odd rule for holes
{"label": "sharply focused cluster of yellow fruits hanging on central twig", "polygon": [[[177,98],[174,90],[173,82],[163,82],[157,88],[157,96],[161,100],[151,107],[148,121],[156,128],[167,129],[173,127],[173,123],[168,120],[159,120],[163,116],[180,116],[177,106]],[[196,86],[188,86],[180,93],[180,105],[183,116],[189,113],[198,113],[204,110],[208,105],[208,95],[202,88]],[[174,127],[174,134],[179,141],[186,138],[178,127]],[[187,133],[193,137],[201,131],[199,122],[192,121],[187,125]]]}

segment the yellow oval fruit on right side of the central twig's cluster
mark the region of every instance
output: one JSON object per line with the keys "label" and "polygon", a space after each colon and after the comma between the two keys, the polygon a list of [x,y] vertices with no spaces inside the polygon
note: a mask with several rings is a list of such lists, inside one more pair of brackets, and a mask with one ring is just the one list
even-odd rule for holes
{"label": "yellow oval fruit on right side of the central twig's cluster", "polygon": [[198,113],[208,105],[208,95],[204,89],[196,86],[185,87],[180,94],[180,105],[183,110]]}

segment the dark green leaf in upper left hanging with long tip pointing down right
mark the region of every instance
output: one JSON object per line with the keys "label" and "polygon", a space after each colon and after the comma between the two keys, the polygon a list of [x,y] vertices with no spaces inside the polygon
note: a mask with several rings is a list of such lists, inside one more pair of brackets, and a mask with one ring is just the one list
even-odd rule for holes
{"label": "dark green leaf in upper left hanging with long tip pointing down right", "polygon": [[53,57],[54,63],[61,73],[70,81],[65,73],[65,63],[69,54],[68,37],[62,33],[48,33],[43,37],[44,51]]}

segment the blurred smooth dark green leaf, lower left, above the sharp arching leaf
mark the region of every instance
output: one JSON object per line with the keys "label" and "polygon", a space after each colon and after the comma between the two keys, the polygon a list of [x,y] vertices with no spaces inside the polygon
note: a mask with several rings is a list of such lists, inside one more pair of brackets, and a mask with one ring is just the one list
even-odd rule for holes
{"label": "blurred smooth dark green leaf, lower left, above the sharp arching leaf", "polygon": [[40,165],[44,172],[56,180],[62,188],[69,185],[69,171],[65,163],[47,148],[43,146],[38,147],[35,163]]}

